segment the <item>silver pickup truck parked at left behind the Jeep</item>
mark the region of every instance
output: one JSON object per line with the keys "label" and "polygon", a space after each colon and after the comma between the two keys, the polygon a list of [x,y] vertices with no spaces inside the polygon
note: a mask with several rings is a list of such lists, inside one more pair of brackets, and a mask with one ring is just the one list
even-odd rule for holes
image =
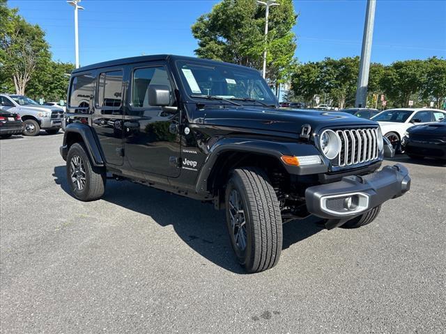
{"label": "silver pickup truck parked at left behind the Jeep", "polygon": [[25,136],[37,136],[40,129],[48,134],[56,134],[61,128],[63,109],[56,106],[41,106],[23,95],[0,94],[0,109],[20,114]]}

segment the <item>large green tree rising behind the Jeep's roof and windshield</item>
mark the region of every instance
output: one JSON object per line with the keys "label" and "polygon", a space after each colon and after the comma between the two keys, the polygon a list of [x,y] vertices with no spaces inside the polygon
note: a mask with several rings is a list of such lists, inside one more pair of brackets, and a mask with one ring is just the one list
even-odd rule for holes
{"label": "large green tree rising behind the Jeep's roof and windshield", "polygon": [[289,79],[296,48],[291,31],[296,23],[291,0],[279,0],[270,8],[269,31],[265,44],[265,8],[254,0],[223,0],[210,13],[192,25],[198,40],[195,54],[238,65],[261,69],[263,50],[267,49],[267,79],[275,86]]}

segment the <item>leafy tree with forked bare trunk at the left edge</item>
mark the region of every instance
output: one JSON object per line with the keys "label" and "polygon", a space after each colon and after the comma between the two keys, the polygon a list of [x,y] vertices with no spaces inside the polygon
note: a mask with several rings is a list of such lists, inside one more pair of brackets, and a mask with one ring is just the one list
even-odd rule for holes
{"label": "leafy tree with forked bare trunk at the left edge", "polygon": [[38,62],[51,57],[45,33],[17,15],[17,9],[9,9],[5,0],[0,2],[0,15],[1,70],[13,80],[16,93],[24,94]]}

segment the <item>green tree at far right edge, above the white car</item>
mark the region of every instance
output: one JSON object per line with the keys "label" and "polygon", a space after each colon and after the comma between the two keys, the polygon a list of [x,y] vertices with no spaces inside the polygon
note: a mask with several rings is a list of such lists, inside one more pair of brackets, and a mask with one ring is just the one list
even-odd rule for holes
{"label": "green tree at far right edge, above the white car", "polygon": [[446,60],[436,57],[425,62],[426,79],[422,84],[422,97],[435,99],[436,107],[441,108],[446,102]]}

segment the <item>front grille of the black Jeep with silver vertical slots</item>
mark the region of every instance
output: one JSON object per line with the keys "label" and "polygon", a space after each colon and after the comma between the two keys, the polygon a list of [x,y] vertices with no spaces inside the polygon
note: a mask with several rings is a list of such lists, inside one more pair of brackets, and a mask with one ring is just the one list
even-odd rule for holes
{"label": "front grille of the black Jeep with silver vertical slots", "polygon": [[379,157],[378,128],[335,131],[341,139],[341,152],[334,166],[344,167],[374,161]]}

